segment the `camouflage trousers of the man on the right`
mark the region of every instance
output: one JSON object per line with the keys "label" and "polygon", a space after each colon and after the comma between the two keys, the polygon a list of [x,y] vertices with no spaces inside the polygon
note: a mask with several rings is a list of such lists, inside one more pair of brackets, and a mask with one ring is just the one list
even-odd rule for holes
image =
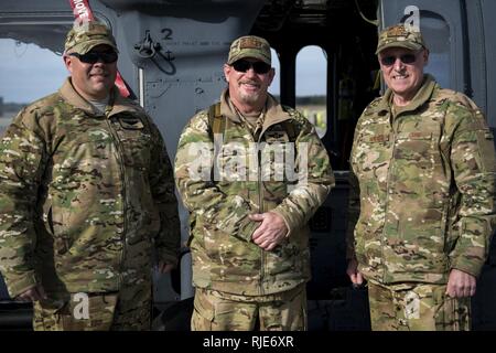
{"label": "camouflage trousers of the man on the right", "polygon": [[368,281],[373,331],[470,331],[471,298],[451,298],[445,290],[445,285]]}

